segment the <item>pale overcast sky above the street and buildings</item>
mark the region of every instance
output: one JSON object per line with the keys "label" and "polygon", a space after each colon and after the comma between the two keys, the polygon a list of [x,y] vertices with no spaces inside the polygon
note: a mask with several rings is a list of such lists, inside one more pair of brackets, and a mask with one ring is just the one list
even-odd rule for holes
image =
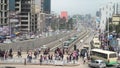
{"label": "pale overcast sky above the street and buildings", "polygon": [[69,15],[88,13],[95,15],[101,5],[110,1],[118,0],[51,0],[51,11],[57,14],[67,11]]}

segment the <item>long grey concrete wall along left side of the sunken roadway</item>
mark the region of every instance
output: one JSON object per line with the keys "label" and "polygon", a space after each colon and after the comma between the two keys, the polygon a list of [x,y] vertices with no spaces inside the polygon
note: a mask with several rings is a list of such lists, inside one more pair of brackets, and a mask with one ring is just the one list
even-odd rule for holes
{"label": "long grey concrete wall along left side of the sunken roadway", "polygon": [[28,49],[40,48],[42,45],[58,40],[69,34],[71,33],[58,34],[58,35],[50,36],[46,38],[37,38],[37,39],[19,41],[19,42],[9,43],[9,44],[0,43],[0,48],[3,50],[4,49],[8,50],[12,48],[14,51],[17,51],[18,49],[21,48],[23,51],[27,51]]}

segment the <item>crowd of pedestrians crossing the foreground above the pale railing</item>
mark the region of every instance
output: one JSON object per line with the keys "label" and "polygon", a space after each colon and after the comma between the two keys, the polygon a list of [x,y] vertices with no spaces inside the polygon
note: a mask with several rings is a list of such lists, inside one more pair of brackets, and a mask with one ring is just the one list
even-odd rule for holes
{"label": "crowd of pedestrians crossing the foreground above the pale railing", "polygon": [[[40,64],[42,64],[44,61],[47,62],[54,62],[54,60],[66,60],[67,63],[69,62],[78,62],[81,53],[79,49],[74,50],[73,52],[69,52],[67,48],[56,48],[54,53],[50,53],[50,48],[46,48],[41,52],[42,50],[40,48],[36,48],[34,50],[28,50],[27,56],[26,56],[26,62],[31,63],[34,59],[39,59]],[[18,49],[17,56],[22,58],[22,50]],[[7,60],[7,58],[13,58],[13,49],[9,50],[0,50],[0,57],[4,60]],[[83,63],[85,63],[87,60],[87,55],[83,56]]]}

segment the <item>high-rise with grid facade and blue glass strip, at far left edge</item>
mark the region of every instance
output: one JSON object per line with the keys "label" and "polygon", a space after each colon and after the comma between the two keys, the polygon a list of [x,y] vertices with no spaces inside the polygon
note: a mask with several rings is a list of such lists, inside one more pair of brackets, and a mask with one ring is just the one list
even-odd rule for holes
{"label": "high-rise with grid facade and blue glass strip, at far left edge", "polygon": [[15,10],[15,0],[0,0],[0,25],[9,24],[9,12]]}

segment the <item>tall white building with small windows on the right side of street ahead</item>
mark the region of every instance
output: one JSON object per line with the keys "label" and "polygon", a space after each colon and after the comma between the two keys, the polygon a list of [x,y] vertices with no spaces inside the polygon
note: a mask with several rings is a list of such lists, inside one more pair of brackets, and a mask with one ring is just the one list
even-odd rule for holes
{"label": "tall white building with small windows on the right side of street ahead", "polygon": [[109,18],[112,18],[114,13],[114,3],[110,2],[100,7],[100,31],[106,31],[106,25],[109,23]]}

